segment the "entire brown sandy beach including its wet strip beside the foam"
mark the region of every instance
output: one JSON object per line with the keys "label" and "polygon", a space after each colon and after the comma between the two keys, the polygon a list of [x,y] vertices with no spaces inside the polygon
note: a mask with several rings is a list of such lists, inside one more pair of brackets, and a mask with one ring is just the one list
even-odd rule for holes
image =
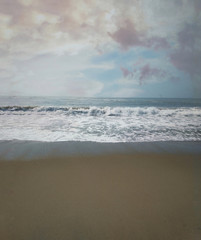
{"label": "entire brown sandy beach including its wet strip beside the foam", "polygon": [[0,238],[198,240],[199,145],[2,141]]}

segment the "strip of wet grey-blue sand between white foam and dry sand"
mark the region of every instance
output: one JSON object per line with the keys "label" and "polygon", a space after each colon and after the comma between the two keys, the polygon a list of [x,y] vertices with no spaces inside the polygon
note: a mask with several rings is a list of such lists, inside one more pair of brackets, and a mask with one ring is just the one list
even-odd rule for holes
{"label": "strip of wet grey-blue sand between white foam and dry sand", "polygon": [[201,155],[201,141],[164,142],[39,142],[0,141],[0,160],[38,159],[105,154],[195,154]]}

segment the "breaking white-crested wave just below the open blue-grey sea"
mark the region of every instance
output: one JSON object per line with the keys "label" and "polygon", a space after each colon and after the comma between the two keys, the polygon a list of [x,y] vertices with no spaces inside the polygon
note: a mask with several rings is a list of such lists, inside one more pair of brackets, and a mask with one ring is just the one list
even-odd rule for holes
{"label": "breaking white-crested wave just below the open blue-grey sea", "polygon": [[55,107],[55,106],[3,106],[0,114],[58,113],[65,115],[132,117],[138,115],[201,116],[201,108],[158,108],[158,107]]}

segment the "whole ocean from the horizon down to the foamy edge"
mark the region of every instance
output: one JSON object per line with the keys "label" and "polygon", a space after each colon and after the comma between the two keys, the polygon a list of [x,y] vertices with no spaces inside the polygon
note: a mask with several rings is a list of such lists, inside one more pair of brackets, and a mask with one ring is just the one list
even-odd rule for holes
{"label": "whole ocean from the horizon down to the foamy edge", "polygon": [[0,97],[0,140],[201,141],[201,99]]}

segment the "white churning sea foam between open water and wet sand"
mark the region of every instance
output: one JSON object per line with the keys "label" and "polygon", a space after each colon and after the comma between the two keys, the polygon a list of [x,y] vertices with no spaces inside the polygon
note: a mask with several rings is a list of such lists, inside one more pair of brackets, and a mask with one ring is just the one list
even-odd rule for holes
{"label": "white churning sea foam between open water and wet sand", "polygon": [[197,141],[200,107],[1,106],[0,140]]}

